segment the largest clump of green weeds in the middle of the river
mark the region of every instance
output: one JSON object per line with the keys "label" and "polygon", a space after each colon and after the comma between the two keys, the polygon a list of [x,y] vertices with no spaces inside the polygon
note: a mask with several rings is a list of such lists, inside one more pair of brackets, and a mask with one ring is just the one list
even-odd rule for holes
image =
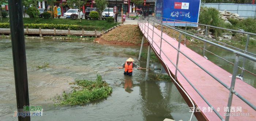
{"label": "largest clump of green weeds in the middle of the river", "polygon": [[112,92],[112,87],[102,81],[101,75],[97,75],[94,81],[76,80],[73,83],[78,87],[71,87],[71,91],[63,91],[62,97],[58,94],[54,97],[54,105],[76,105],[94,101],[100,98],[108,97]]}

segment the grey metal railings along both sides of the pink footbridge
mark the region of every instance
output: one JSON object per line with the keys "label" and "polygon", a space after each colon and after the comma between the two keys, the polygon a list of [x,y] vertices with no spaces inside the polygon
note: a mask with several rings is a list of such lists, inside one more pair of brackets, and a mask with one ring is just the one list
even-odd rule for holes
{"label": "grey metal railings along both sides of the pink footbridge", "polygon": [[[153,44],[155,43],[154,41],[154,35],[157,35],[161,38],[161,43],[160,43],[160,47],[155,43],[155,45],[157,45],[157,47],[160,49],[159,50],[159,58],[161,58],[161,53],[164,54],[166,56],[166,58],[172,63],[173,66],[176,67],[176,72],[175,72],[175,78],[173,78],[172,76],[170,76],[174,82],[176,82],[176,78],[177,78],[177,72],[179,71],[180,74],[187,80],[187,82],[193,87],[193,89],[195,89],[195,91],[200,95],[200,97],[202,97],[202,99],[207,103],[207,105],[209,105],[210,107],[212,107],[212,105],[206,100],[206,98],[203,97],[203,95],[195,88],[195,86],[192,85],[192,83],[185,77],[185,75],[180,71],[180,69],[178,69],[178,59],[179,59],[179,54],[181,53],[182,55],[184,55],[185,57],[187,57],[190,61],[192,61],[193,63],[195,63],[198,67],[200,67],[202,70],[204,70],[207,74],[209,74],[212,78],[214,78],[216,81],[218,81],[219,83],[221,83],[221,85],[223,85],[224,87],[226,87],[226,89],[229,90],[229,100],[228,100],[228,103],[227,103],[227,107],[229,107],[229,110],[228,112],[226,113],[230,113],[230,106],[232,104],[232,99],[233,99],[233,94],[235,94],[238,98],[240,98],[242,101],[244,101],[247,105],[249,105],[253,110],[256,111],[256,106],[253,105],[251,102],[249,102],[247,99],[245,99],[244,97],[242,97],[240,94],[238,94],[235,90],[234,90],[234,86],[235,86],[235,81],[236,81],[236,74],[237,74],[237,69],[238,69],[238,62],[239,62],[239,57],[242,56],[244,58],[244,61],[243,61],[243,68],[244,68],[244,64],[245,64],[245,59],[249,59],[253,62],[256,62],[256,58],[251,56],[251,55],[255,55],[251,52],[247,52],[247,46],[248,46],[248,40],[249,40],[249,35],[256,35],[256,34],[253,34],[253,33],[249,33],[249,32],[241,32],[241,31],[236,31],[236,30],[229,30],[229,29],[225,29],[225,28],[221,28],[223,30],[228,30],[228,31],[235,31],[235,32],[240,32],[240,33],[243,33],[243,34],[248,34],[247,35],[247,42],[246,42],[246,48],[245,50],[241,50],[239,48],[236,48],[236,47],[233,47],[234,49],[231,49],[229,48],[230,46],[225,44],[225,43],[221,43],[221,44],[225,44],[226,46],[229,46],[229,47],[225,47],[225,46],[222,46],[218,43],[218,41],[215,41],[212,39],[212,41],[216,42],[211,42],[207,39],[206,39],[206,36],[204,36],[204,39],[200,38],[200,37],[197,37],[197,36],[194,36],[194,35],[191,35],[188,33],[187,30],[179,30],[175,27],[171,27],[171,26],[168,26],[167,24],[163,24],[162,22],[162,19],[167,19],[167,18],[162,18],[161,17],[161,20],[159,20],[158,18],[155,18],[155,20],[151,20],[151,19],[148,19],[148,20],[138,20],[138,25],[142,28],[142,30],[144,30],[144,34],[147,34],[146,39],[151,39],[152,40],[152,43],[150,43],[153,47]],[[175,20],[176,21],[176,20]],[[189,22],[186,22],[186,24],[189,23]],[[153,29],[149,28],[149,24],[151,24],[153,26]],[[194,23],[193,23],[194,24]],[[161,35],[158,35],[155,31],[154,31],[154,28],[157,29],[155,27],[155,25],[160,25],[161,26]],[[203,25],[203,24],[199,24],[199,25]],[[167,42],[164,38],[162,38],[162,35],[163,35],[163,26],[165,26],[166,28],[170,28],[172,29],[173,31],[178,31],[179,32],[179,35],[176,35],[179,37],[178,39],[178,48],[174,47],[172,44],[170,44],[169,42]],[[207,25],[203,25],[203,26],[206,26],[207,28],[208,27],[214,27],[214,26],[207,26]],[[146,29],[147,27],[147,29]],[[214,28],[219,28],[219,27],[214,27]],[[152,38],[150,36],[148,36],[148,30],[151,30],[153,31],[153,34],[152,34]],[[166,30],[167,31],[167,30]],[[207,31],[207,29],[206,29]],[[204,42],[204,53],[206,51],[205,49],[205,45],[206,43],[208,44],[211,44],[213,46],[216,46],[216,47],[219,47],[219,48],[222,48],[223,50],[226,50],[226,51],[229,51],[233,54],[236,55],[235,57],[235,62],[233,63],[234,65],[234,68],[233,68],[233,74],[232,74],[232,78],[231,78],[231,86],[227,86],[224,82],[222,82],[220,79],[218,79],[217,77],[215,77],[213,74],[211,74],[208,70],[204,69],[202,66],[200,66],[198,63],[196,63],[195,61],[193,61],[191,58],[189,58],[186,54],[184,54],[182,51],[180,51],[180,44],[181,44],[181,35],[184,34],[185,36],[190,36],[192,38],[195,38],[195,39],[198,39],[198,40],[201,40]],[[173,32],[173,37],[174,37],[174,32]],[[207,34],[206,34],[207,35]],[[148,38],[149,37],[149,38]],[[185,37],[186,39],[186,37]],[[176,64],[174,64],[168,57],[167,55],[165,54],[165,52],[162,51],[161,47],[162,47],[162,40],[164,40],[166,43],[168,43],[170,46],[172,46],[175,50],[177,50],[177,61],[176,61]],[[232,47],[232,46],[231,46]],[[154,49],[154,48],[152,48]],[[240,51],[243,51],[244,53],[240,52]],[[207,51],[207,52],[210,52],[210,51]],[[247,55],[246,53],[248,54],[251,54],[251,55]],[[215,55],[215,54],[214,54]],[[157,55],[158,56],[158,55]],[[231,62],[230,62],[231,63]],[[242,68],[242,69],[243,69]],[[169,70],[168,70],[169,71]],[[170,72],[169,72],[170,74]],[[177,83],[178,84],[178,83]],[[182,87],[180,85],[178,85],[181,89]],[[183,90],[184,91],[184,90]],[[185,94],[187,95],[187,93],[185,92]],[[188,96],[188,95],[187,95]],[[191,100],[191,98],[188,96],[188,98]],[[192,102],[192,101],[191,101]],[[193,104],[193,102],[192,102]],[[193,104],[194,106],[194,104]],[[217,114],[217,116],[222,120],[222,121],[229,121],[229,116],[226,116],[225,120],[222,118],[222,116],[217,112],[217,110],[215,110],[213,107],[212,107],[212,110],[214,111],[215,114]],[[191,118],[190,118],[190,121],[192,120],[192,116],[193,116],[193,113],[194,111],[192,112],[192,115],[191,115]]]}

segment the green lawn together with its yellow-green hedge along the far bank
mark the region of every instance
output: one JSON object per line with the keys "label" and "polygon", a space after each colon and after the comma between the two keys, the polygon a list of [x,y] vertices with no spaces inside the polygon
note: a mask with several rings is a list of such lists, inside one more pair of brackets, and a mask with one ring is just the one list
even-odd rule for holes
{"label": "green lawn together with its yellow-green hedge along the far bank", "polygon": [[[3,20],[0,22],[0,28],[10,28],[9,17],[2,18]],[[82,19],[80,22],[79,19],[43,19],[31,17],[23,17],[24,28],[39,28],[42,29],[53,29],[57,30],[82,30],[84,31],[94,31],[94,30],[108,30],[119,23],[107,22],[106,20],[88,20]]]}

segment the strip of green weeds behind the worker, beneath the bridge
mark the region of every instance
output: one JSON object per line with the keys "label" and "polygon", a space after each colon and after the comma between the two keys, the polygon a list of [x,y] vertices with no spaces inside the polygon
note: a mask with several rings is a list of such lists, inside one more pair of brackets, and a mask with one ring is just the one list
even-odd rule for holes
{"label": "strip of green weeds behind the worker, beneath the bridge", "polygon": [[[125,54],[128,55],[135,55],[135,56],[139,56],[140,52],[124,52]],[[142,51],[141,52],[141,58],[146,59],[147,60],[147,51]],[[154,52],[150,52],[150,62],[159,62],[157,56],[155,55]]]}

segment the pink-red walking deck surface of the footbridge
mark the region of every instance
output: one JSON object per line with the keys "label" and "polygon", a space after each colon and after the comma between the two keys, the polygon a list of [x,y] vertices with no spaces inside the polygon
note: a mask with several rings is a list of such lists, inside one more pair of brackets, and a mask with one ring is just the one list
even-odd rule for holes
{"label": "pink-red walking deck surface of the footbridge", "polygon": [[[153,29],[152,25],[149,25],[149,27]],[[143,29],[144,29],[144,25],[143,25]],[[142,27],[140,27],[140,30],[144,33],[143,29]],[[145,30],[146,32],[144,33],[144,36],[147,37],[147,30],[148,30],[148,42],[152,43],[152,39],[150,38],[152,38],[153,31],[147,28],[147,23],[146,23]],[[161,30],[157,30],[156,28],[154,28],[154,32],[156,32],[158,35],[161,36]],[[160,47],[161,38],[157,34],[154,33],[153,40]],[[164,33],[162,37],[167,42],[172,44],[174,47],[178,48],[177,40],[174,40],[173,38],[171,38],[170,36]],[[153,42],[153,46],[151,47],[155,49],[156,51],[155,54],[159,55],[160,49],[157,47],[157,45],[154,42]],[[174,49],[172,46],[170,46],[168,43],[166,43],[164,40],[162,40],[162,51],[168,56],[168,58],[174,64],[176,64],[177,50]],[[180,45],[180,51],[182,51],[184,54],[189,56],[189,58],[193,59],[196,63],[201,65],[204,69],[208,70],[211,74],[213,74],[215,77],[220,79],[226,85],[228,86],[231,85],[231,78],[229,76],[232,76],[232,74],[228,73],[221,67],[215,65],[211,61],[207,60],[203,56],[197,54],[196,52],[192,51],[191,49],[189,49],[188,47],[182,44]],[[174,75],[176,68],[162,53],[161,53],[161,58],[166,63],[167,68],[170,70],[170,72]],[[180,71],[185,75],[185,77],[187,77],[187,79],[192,83],[192,85],[194,85],[196,89],[203,95],[203,97],[207,99],[207,101],[213,106],[214,109],[217,110],[217,108],[220,108],[220,111],[218,113],[225,119],[224,107],[227,107],[227,102],[229,99],[229,90],[226,89],[224,86],[222,86],[218,81],[216,81],[214,78],[208,75],[205,71],[200,69],[200,67],[195,65],[193,62],[191,62],[188,58],[186,58],[181,53],[179,54],[178,69],[180,69]],[[209,121],[221,121],[221,119],[213,111],[208,112],[209,106],[179,72],[177,72],[177,80],[178,80],[178,83],[180,83],[183,89],[191,97],[196,107],[200,107],[201,116],[203,116],[206,120],[209,120]],[[236,90],[237,93],[242,95],[245,99],[247,99],[253,105],[256,105],[256,89],[254,87],[236,78],[236,85],[234,90]],[[187,103],[188,105],[191,104],[191,102],[187,102]],[[206,107],[206,112],[202,110],[203,107]],[[230,121],[256,121],[256,111],[253,110],[250,106],[248,106],[244,101],[242,101],[236,95],[233,95],[232,107],[235,107],[235,112],[230,112],[230,113],[236,113],[236,114],[240,113],[240,116],[230,116]],[[237,111],[237,107],[241,107],[241,112]],[[246,116],[246,113],[249,113],[249,116]],[[197,117],[197,119],[199,120],[200,118]]]}

